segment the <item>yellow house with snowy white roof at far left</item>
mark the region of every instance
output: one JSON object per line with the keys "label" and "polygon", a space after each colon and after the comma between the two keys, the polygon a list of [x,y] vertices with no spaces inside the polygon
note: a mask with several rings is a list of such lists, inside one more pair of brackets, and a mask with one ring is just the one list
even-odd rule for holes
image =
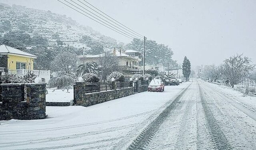
{"label": "yellow house with snowy white roof at far left", "polygon": [[[0,46],[0,68],[2,70],[33,70],[35,55],[10,46]],[[4,68],[4,69],[3,69]]]}

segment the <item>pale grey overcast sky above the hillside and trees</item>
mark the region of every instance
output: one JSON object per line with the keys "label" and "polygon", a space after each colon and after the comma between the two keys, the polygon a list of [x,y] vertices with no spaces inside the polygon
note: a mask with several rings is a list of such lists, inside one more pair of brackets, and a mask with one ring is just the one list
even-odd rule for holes
{"label": "pale grey overcast sky above the hillside and trees", "polygon": [[[179,63],[220,64],[244,53],[256,62],[256,0],[87,0],[148,39],[166,44]],[[129,38],[82,16],[57,0],[0,0],[66,14],[118,41]]]}

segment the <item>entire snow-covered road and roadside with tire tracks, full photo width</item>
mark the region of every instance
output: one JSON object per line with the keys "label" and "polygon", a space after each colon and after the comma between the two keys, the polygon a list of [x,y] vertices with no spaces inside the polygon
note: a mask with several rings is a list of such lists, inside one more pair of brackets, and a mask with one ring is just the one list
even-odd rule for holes
{"label": "entire snow-covered road and roadside with tire tracks, full photo width", "polygon": [[0,121],[0,149],[254,150],[255,103],[194,80],[90,107],[47,106],[44,120]]}

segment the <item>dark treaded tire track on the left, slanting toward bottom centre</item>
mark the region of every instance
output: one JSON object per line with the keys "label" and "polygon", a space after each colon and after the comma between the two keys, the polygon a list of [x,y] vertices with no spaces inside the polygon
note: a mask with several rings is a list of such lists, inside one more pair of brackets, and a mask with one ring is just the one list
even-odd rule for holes
{"label": "dark treaded tire track on the left, slanting toward bottom centre", "polygon": [[144,150],[144,147],[152,140],[154,134],[159,130],[164,120],[169,116],[171,110],[173,110],[177,105],[178,101],[188,90],[190,85],[191,83],[172,101],[171,104],[169,104],[150,124],[148,124],[140,134],[138,134],[136,139],[128,146],[127,150]]}

